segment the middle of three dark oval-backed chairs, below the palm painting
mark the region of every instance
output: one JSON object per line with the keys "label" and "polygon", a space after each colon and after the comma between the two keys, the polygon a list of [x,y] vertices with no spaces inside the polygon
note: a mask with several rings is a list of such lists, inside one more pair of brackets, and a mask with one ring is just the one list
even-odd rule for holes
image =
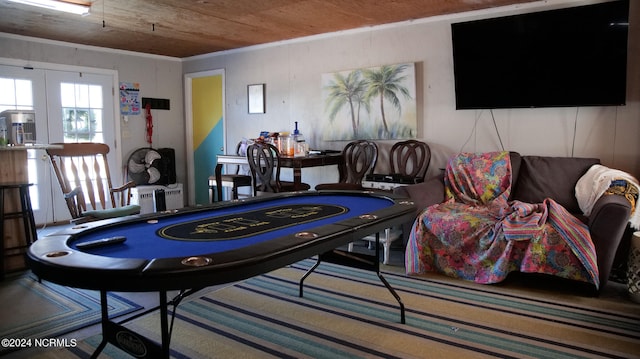
{"label": "middle of three dark oval-backed chairs, below the palm painting", "polygon": [[321,183],[316,190],[363,190],[362,180],[372,174],[378,161],[375,142],[358,140],[349,142],[342,150],[344,164],[337,183]]}

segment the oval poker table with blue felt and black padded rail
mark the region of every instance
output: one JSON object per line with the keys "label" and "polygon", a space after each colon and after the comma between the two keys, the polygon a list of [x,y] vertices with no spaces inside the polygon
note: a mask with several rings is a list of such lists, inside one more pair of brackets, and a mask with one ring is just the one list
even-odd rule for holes
{"label": "oval poker table with blue felt and black padded rail", "polygon": [[[111,342],[134,356],[168,357],[169,304],[313,256],[301,296],[304,278],[321,261],[375,270],[404,322],[404,305],[379,272],[379,253],[372,259],[336,249],[414,216],[412,202],[387,192],[288,192],[70,227],[33,243],[27,262],[40,279],[100,291],[103,343],[95,355]],[[180,294],[168,302],[170,290]],[[159,293],[161,345],[109,320],[108,291]]]}

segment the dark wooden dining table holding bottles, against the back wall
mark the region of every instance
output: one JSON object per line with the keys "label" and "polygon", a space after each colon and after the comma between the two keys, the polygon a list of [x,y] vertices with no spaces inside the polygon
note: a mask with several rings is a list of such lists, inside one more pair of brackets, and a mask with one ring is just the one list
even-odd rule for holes
{"label": "dark wooden dining table holding bottles, against the back wall", "polygon": [[[218,164],[223,165],[249,164],[246,156],[218,155],[217,160]],[[281,156],[279,157],[278,161],[280,167],[293,169],[293,184],[296,191],[303,189],[302,168],[337,165],[338,171],[340,171],[341,173],[342,171],[344,171],[344,159],[342,157],[342,153],[310,154],[300,157]],[[340,176],[340,178],[342,178],[342,176]]]}

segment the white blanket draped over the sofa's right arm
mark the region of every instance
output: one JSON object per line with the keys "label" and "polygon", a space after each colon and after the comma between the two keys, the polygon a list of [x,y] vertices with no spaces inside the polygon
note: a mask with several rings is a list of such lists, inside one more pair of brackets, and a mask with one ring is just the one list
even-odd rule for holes
{"label": "white blanket draped over the sofa's right arm", "polygon": [[[593,165],[589,168],[587,173],[576,183],[576,199],[585,216],[591,214],[596,201],[609,189],[611,182],[619,179],[633,184],[636,187],[636,191],[640,187],[638,180],[624,171],[611,169],[603,165]],[[638,207],[636,203],[636,207],[629,218],[629,224],[637,230],[640,229],[640,210]]]}

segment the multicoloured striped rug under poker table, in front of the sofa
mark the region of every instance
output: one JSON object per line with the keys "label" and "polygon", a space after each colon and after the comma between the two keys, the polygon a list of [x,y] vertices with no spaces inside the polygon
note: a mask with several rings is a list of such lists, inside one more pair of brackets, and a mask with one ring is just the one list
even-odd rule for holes
{"label": "multicoloured striped rug under poker table, in front of the sofa", "polygon": [[[606,298],[524,291],[440,276],[375,273],[312,261],[258,276],[178,307],[176,358],[638,358],[640,306]],[[158,314],[131,323],[157,338]],[[74,355],[91,352],[99,336]],[[105,354],[123,357],[107,346]]]}

